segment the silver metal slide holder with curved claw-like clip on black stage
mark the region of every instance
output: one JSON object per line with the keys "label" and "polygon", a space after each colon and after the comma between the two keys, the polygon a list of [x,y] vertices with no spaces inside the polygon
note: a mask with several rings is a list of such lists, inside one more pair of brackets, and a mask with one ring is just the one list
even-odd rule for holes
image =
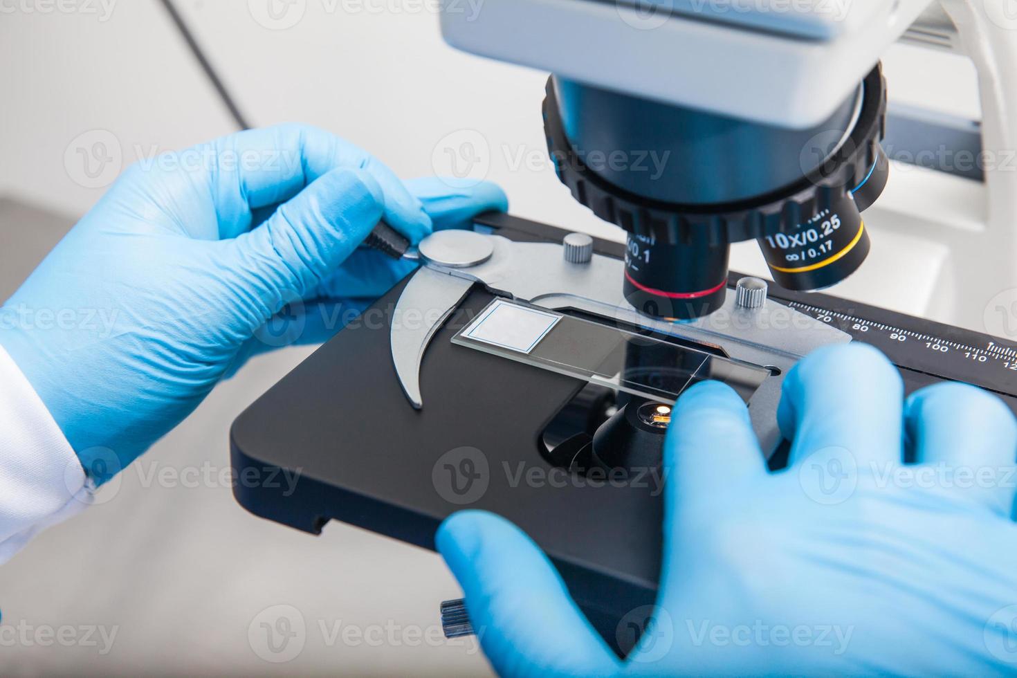
{"label": "silver metal slide holder with curved claw-like clip on black stage", "polygon": [[772,367],[777,378],[764,382],[751,402],[762,406],[752,415],[765,443],[779,435],[767,422],[780,396],[781,373],[821,346],[850,341],[848,334],[770,300],[760,308],[738,308],[733,295],[721,309],[694,321],[650,318],[624,299],[621,260],[593,254],[586,262],[566,261],[562,246],[554,243],[517,243],[472,231],[439,231],[421,241],[419,254],[422,266],[399,298],[390,336],[396,373],[418,410],[423,407],[420,367],[427,345],[474,283],[508,299],[551,310],[587,311],[719,346],[731,358]]}

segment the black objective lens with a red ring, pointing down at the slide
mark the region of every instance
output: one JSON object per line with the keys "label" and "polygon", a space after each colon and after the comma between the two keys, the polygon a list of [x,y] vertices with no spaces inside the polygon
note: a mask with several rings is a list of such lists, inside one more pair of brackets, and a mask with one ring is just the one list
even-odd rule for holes
{"label": "black objective lens with a red ring, pointing down at the slide", "polygon": [[660,243],[630,233],[625,299],[637,311],[658,318],[689,320],[713,313],[727,294],[728,252],[726,243]]}

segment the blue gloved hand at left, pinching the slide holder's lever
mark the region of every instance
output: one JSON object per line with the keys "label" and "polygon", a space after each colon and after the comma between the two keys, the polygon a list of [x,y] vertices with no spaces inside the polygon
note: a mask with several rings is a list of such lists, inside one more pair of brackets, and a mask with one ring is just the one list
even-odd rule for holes
{"label": "blue gloved hand at left, pinching the slide holder's lever", "polygon": [[491,184],[404,185],[312,127],[240,132],[131,167],[0,309],[0,346],[101,483],[252,344],[321,341],[350,316],[319,302],[376,297],[408,273],[357,249],[379,219],[416,242],[432,220],[504,207]]}

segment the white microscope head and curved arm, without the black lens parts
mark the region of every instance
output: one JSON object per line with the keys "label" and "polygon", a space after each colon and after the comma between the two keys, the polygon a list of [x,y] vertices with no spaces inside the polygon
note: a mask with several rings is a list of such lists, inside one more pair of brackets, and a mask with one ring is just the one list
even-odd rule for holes
{"label": "white microscope head and curved arm, without the black lens parts", "polygon": [[[1017,338],[1013,0],[486,0],[476,16],[455,7],[444,3],[442,33],[464,51],[788,128],[823,121],[897,41],[966,55],[980,124],[918,134],[912,157],[940,159],[941,172],[895,161],[887,139],[891,180],[866,212],[873,256],[834,294]],[[898,129],[922,118],[891,104],[894,116]]]}

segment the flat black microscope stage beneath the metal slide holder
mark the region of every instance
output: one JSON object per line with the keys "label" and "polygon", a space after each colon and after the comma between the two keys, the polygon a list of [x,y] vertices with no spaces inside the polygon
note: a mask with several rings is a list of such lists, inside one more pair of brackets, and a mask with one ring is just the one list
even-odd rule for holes
{"label": "flat black microscope stage beneath the metal slide holder", "polygon": [[[504,214],[478,219],[478,230],[515,243],[560,243],[565,235]],[[606,258],[622,254],[617,243],[595,241],[594,246]],[[318,534],[325,522],[338,519],[425,548],[434,548],[435,530],[457,510],[494,511],[548,553],[595,625],[613,629],[625,612],[651,604],[656,595],[659,469],[612,483],[609,477],[590,482],[589,476],[555,466],[554,452],[545,444],[548,431],[564,421],[567,407],[584,403],[589,375],[537,364],[560,356],[553,344],[521,361],[454,341],[464,328],[466,334],[475,329],[478,315],[499,298],[479,284],[430,338],[420,363],[422,408],[413,407],[390,344],[393,318],[410,322],[395,309],[412,280],[400,283],[236,420],[231,450],[237,474],[282,469],[298,477],[295,488],[238,484],[237,500],[252,513],[304,532]],[[967,381],[997,392],[1017,412],[1017,346],[822,294],[772,290],[771,298],[809,322],[840,330],[830,329],[831,337],[845,332],[845,341],[849,335],[880,348],[900,368],[908,392],[943,380]],[[534,336],[551,337],[569,327],[573,338],[564,340],[575,341],[582,323],[591,321],[563,311],[552,315],[565,319],[535,324]],[[679,326],[695,328],[695,323]],[[787,346],[792,346],[795,329],[784,331],[791,333]],[[718,338],[714,346],[697,345],[693,353],[719,356],[726,344]],[[666,355],[682,352],[678,348]],[[695,364],[699,369],[703,359]],[[768,408],[775,405],[754,398],[761,397],[767,382],[779,384],[776,372],[783,370],[741,379],[754,419],[760,412],[772,417]],[[758,433],[766,424],[754,421]],[[780,465],[782,449],[786,445],[770,450],[772,466]]]}

